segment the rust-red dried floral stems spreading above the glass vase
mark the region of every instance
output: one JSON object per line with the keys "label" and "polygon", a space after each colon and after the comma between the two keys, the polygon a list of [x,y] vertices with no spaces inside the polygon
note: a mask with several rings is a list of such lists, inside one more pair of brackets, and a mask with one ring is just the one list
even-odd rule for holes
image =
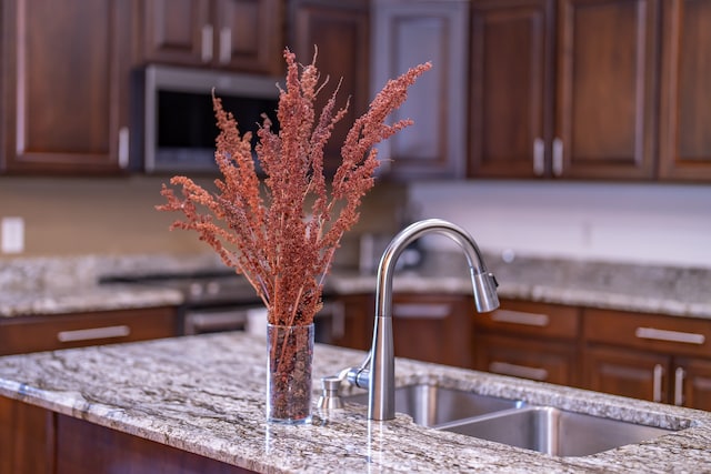
{"label": "rust-red dried floral stems spreading above the glass vase", "polygon": [[388,124],[387,119],[431,64],[410,69],[378,93],[351,127],[341,148],[342,162],[329,186],[323,149],[349,104],[337,108],[336,87],[317,115],[314,100],[328,83],[321,81],[317,56],[308,65],[298,64],[288,49],[283,56],[287,79],[286,89],[279,88],[279,132],[272,131],[267,115],[257,131],[263,188],[252,157],[251,132],[240,134],[233,115],[213,95],[220,129],[216,151],[222,174],[216,180],[219,193],[206,191],[187,177],[173,177],[170,183],[182,186],[182,199],[163,184],[167,203],[157,209],[183,213],[184,220],[177,220],[171,229],[197,231],[228,266],[249,280],[269,310],[269,323],[308,325],[321,306],[333,252],[343,233],[358,222],[361,199],[374,184],[379,161],[373,145],[412,123]]}

